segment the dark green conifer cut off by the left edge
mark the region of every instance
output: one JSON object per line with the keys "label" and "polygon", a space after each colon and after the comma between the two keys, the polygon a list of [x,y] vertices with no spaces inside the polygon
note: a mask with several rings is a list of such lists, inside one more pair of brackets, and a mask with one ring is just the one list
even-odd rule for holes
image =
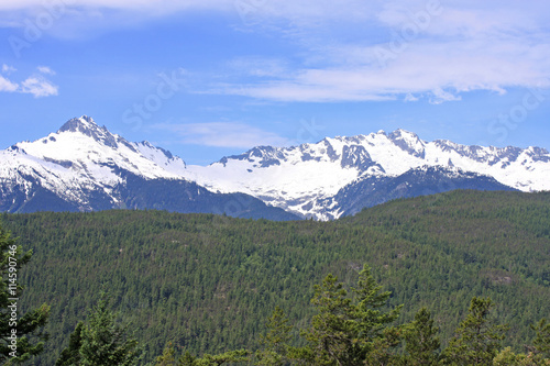
{"label": "dark green conifer cut off by the left edge", "polygon": [[31,259],[32,251],[23,252],[10,232],[0,226],[0,362],[14,365],[44,350],[47,333],[43,331],[50,307],[20,314],[23,295],[22,267]]}

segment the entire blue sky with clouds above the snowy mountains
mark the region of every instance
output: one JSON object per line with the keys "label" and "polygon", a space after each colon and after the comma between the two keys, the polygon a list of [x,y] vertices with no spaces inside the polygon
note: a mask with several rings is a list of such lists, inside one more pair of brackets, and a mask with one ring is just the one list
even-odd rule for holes
{"label": "entire blue sky with clouds above the snowy mountains", "polygon": [[0,148],[82,114],[207,165],[403,127],[550,148],[550,2],[0,0]]}

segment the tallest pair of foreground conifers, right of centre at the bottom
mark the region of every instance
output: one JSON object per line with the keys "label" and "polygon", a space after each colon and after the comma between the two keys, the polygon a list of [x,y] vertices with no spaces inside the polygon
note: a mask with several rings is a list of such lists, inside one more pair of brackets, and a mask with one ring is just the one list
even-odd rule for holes
{"label": "tallest pair of foreground conifers, right of centre at the bottom", "polygon": [[307,365],[363,365],[375,350],[384,350],[377,357],[391,357],[399,340],[393,336],[398,330],[388,331],[387,325],[397,319],[400,307],[384,309],[391,292],[381,289],[366,266],[359,274],[353,297],[329,274],[315,287],[311,303],[317,314],[301,332],[308,344],[293,350],[292,358]]}

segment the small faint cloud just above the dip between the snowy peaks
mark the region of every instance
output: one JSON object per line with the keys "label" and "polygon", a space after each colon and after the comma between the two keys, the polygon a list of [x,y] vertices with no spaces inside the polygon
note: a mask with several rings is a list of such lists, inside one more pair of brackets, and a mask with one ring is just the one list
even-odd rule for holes
{"label": "small faint cloud just above the dip between the snowy peaks", "polygon": [[277,134],[238,122],[210,122],[188,124],[155,124],[183,137],[185,144],[250,148],[258,145],[284,146],[288,140]]}

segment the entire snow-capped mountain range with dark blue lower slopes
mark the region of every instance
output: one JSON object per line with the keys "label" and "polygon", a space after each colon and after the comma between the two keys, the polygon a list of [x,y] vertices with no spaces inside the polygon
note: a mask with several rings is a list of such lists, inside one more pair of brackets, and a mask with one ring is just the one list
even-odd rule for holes
{"label": "entire snow-capped mountain range with dark blue lower slopes", "polygon": [[454,189],[550,189],[550,153],[378,131],[292,147],[256,146],[186,165],[91,118],[0,152],[0,211],[160,209],[240,218],[332,220],[391,199]]}

